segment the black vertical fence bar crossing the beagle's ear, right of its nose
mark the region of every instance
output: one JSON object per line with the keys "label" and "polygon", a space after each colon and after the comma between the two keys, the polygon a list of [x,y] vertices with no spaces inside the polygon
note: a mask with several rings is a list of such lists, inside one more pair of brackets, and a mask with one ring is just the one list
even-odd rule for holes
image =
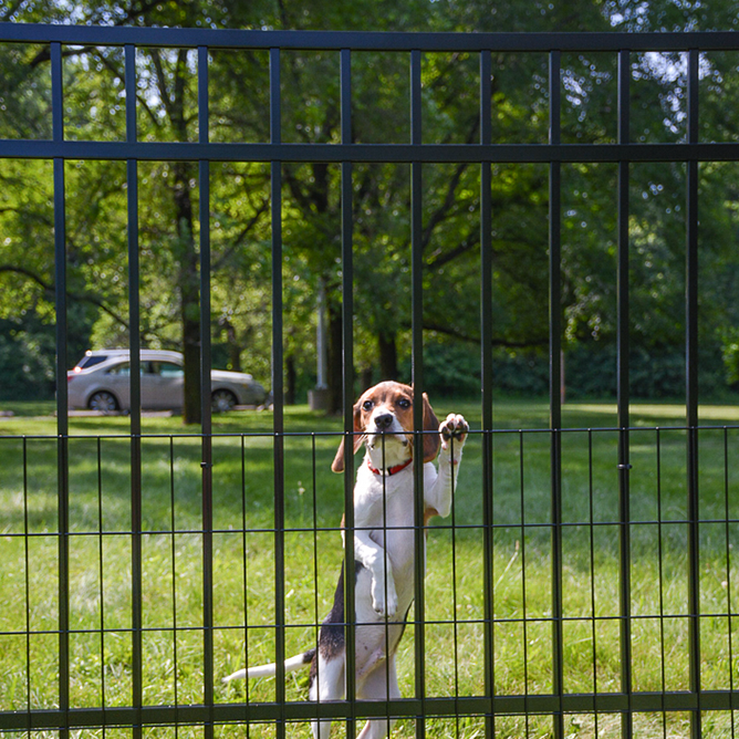
{"label": "black vertical fence bar crossing the beagle's ear, right of its nose", "polygon": [[[419,50],[410,52],[410,143],[421,145]],[[416,718],[416,738],[426,736],[426,668],[425,637],[426,607],[424,593],[426,539],[424,532],[424,274],[423,274],[423,189],[421,164],[410,164],[410,262],[412,262],[412,365],[414,386],[414,490],[415,490],[415,666],[416,698],[420,701],[420,715]]]}

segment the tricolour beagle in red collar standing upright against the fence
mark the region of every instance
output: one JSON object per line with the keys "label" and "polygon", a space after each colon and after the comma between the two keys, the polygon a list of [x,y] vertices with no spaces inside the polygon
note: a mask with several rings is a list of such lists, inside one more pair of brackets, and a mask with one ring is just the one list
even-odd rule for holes
{"label": "tricolour beagle in red collar standing upright against the fence", "polygon": [[[354,451],[366,452],[354,486],[354,608],[356,698],[399,698],[395,656],[413,603],[415,504],[413,459],[413,387],[385,382],[366,391],[354,405]],[[459,460],[469,426],[450,414],[439,424],[426,394],[424,404],[424,525],[446,517],[457,482]],[[438,471],[434,460],[441,448]],[[344,471],[344,441],[331,466]],[[343,521],[342,521],[342,537]],[[310,699],[341,700],[345,696],[344,570],[339,576],[333,608],[321,626],[318,649],[287,659],[285,673],[310,664]],[[241,669],[225,678],[267,677],[274,664]],[[361,739],[382,739],[392,725],[367,721]],[[329,739],[331,721],[313,720],[315,739]]]}

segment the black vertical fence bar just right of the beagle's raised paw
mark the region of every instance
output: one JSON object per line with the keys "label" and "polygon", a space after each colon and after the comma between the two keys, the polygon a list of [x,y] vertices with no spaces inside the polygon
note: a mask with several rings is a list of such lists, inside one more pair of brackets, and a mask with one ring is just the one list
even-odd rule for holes
{"label": "black vertical fence bar just right of the beagle's raised paw", "polygon": [[[489,50],[480,52],[480,144],[492,143]],[[486,715],[486,736],[495,735],[492,715],[493,674],[493,559],[492,559],[492,167],[480,164],[480,362],[482,379],[482,554],[485,594],[485,697],[490,701]]]}

